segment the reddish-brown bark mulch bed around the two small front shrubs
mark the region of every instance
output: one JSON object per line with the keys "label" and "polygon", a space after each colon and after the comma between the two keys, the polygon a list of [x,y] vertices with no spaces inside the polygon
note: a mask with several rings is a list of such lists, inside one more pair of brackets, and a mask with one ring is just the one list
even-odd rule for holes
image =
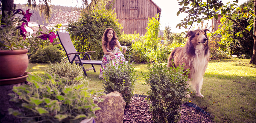
{"label": "reddish-brown bark mulch bed around the two small front shrubs", "polygon": [[[132,97],[128,108],[125,108],[123,123],[153,123],[149,105],[143,97]],[[181,105],[181,119],[179,123],[213,123],[212,118],[193,107]]]}

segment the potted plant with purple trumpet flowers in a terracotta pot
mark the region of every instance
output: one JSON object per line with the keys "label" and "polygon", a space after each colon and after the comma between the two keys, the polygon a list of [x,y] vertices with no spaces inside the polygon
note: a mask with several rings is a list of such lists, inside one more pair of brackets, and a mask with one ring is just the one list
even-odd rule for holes
{"label": "potted plant with purple trumpet flowers in a terracotta pot", "polygon": [[[10,12],[4,12],[6,15],[0,26],[0,78],[8,79],[22,76],[28,66],[27,52],[34,50],[40,45],[40,39],[49,39],[53,42],[56,35],[53,32],[44,34],[35,39],[27,39],[27,31],[24,26],[28,26],[30,16],[27,9],[26,13],[21,9],[15,9]],[[17,14],[23,15],[23,18],[18,18]],[[40,38],[40,39],[37,39]]]}

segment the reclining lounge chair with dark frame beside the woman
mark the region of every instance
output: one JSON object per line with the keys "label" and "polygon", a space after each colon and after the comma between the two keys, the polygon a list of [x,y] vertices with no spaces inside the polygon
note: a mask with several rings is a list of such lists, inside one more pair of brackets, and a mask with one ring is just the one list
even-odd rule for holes
{"label": "reclining lounge chair with dark frame beside the woman", "polygon": [[[69,59],[69,62],[71,64],[73,64],[73,62],[75,62],[75,64],[81,65],[85,76],[87,76],[86,71],[89,71],[89,70],[93,69],[94,72],[96,72],[93,65],[94,64],[95,65],[101,65],[102,61],[93,61],[93,60],[91,60],[91,57],[88,54],[88,53],[93,53],[95,51],[77,52],[76,49],[75,49],[75,46],[73,45],[73,43],[70,39],[69,33],[61,33],[61,32],[57,31],[57,34],[58,34],[58,37],[59,37],[59,41],[61,42],[61,45],[64,48],[64,50],[66,52],[66,55],[67,55],[67,58]],[[85,54],[82,59],[78,55],[78,54],[81,54],[81,53]],[[86,58],[86,56],[88,56],[89,60],[84,60]],[[85,70],[83,64],[91,64],[92,67]]]}

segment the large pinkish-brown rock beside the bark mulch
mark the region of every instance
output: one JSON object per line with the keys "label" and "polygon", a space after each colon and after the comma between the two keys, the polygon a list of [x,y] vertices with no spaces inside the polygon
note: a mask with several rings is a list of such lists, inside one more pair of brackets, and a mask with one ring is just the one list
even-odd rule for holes
{"label": "large pinkish-brown rock beside the bark mulch", "polygon": [[123,101],[122,95],[115,91],[99,98],[104,101],[98,103],[101,110],[95,111],[96,123],[123,123],[125,101]]}

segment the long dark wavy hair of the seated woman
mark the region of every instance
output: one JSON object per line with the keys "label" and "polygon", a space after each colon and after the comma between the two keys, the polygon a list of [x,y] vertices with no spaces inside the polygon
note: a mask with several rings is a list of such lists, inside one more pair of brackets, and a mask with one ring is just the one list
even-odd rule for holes
{"label": "long dark wavy hair of the seated woman", "polygon": [[108,34],[108,31],[112,30],[114,32],[114,35],[111,39],[111,41],[109,42],[109,46],[110,46],[110,49],[114,49],[114,46],[116,46],[116,40],[118,40],[118,37],[116,36],[116,32],[114,31],[113,28],[107,28],[102,36],[102,40],[104,40],[104,45],[106,47],[108,47],[108,37],[107,37],[107,34]]}

